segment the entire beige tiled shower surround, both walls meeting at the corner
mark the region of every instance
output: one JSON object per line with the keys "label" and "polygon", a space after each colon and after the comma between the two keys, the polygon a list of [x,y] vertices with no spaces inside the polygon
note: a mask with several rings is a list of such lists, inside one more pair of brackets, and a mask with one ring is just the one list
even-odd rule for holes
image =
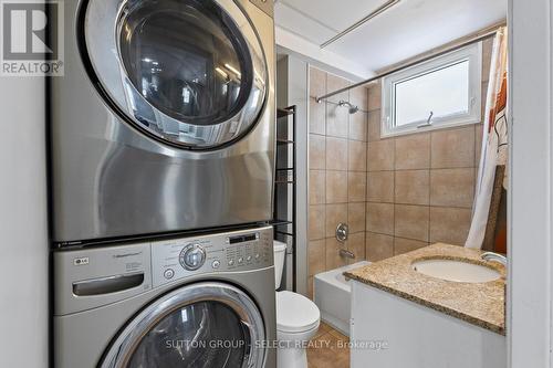
{"label": "entire beige tiled shower surround, both walls meeting at the corner", "polygon": [[[482,118],[492,40],[483,42]],[[349,82],[310,69],[309,285],[352,262],[378,261],[435,242],[462,245],[471,220],[482,124],[380,139],[380,84],[314,99]],[[362,109],[349,115],[340,99]],[[334,238],[338,222],[349,240]]]}

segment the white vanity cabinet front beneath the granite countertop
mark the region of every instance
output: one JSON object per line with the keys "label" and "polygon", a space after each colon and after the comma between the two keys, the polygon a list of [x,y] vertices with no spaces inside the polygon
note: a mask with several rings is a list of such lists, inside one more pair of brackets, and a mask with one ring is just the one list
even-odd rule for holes
{"label": "white vanity cabinet front beneath the granite countertop", "polygon": [[505,368],[507,339],[352,281],[351,358],[352,368]]}

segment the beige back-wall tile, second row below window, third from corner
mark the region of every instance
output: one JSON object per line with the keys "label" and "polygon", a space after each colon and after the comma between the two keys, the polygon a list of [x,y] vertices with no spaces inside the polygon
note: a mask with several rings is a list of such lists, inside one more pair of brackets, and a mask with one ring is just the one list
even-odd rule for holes
{"label": "beige back-wall tile, second row below window, third from corner", "polygon": [[438,169],[430,172],[430,204],[472,208],[474,169]]}

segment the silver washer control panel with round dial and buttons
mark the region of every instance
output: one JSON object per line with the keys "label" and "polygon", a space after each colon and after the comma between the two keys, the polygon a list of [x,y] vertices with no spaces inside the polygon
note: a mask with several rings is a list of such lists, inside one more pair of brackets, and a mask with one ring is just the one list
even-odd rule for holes
{"label": "silver washer control panel with round dial and buttons", "polygon": [[171,239],[152,243],[153,284],[213,272],[242,272],[273,265],[271,227]]}

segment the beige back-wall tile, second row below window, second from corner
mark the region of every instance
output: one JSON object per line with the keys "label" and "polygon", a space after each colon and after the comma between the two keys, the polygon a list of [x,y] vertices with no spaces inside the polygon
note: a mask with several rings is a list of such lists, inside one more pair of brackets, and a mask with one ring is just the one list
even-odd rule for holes
{"label": "beige back-wall tile, second row below window, second from corner", "polygon": [[396,171],[396,203],[428,204],[430,170]]}

